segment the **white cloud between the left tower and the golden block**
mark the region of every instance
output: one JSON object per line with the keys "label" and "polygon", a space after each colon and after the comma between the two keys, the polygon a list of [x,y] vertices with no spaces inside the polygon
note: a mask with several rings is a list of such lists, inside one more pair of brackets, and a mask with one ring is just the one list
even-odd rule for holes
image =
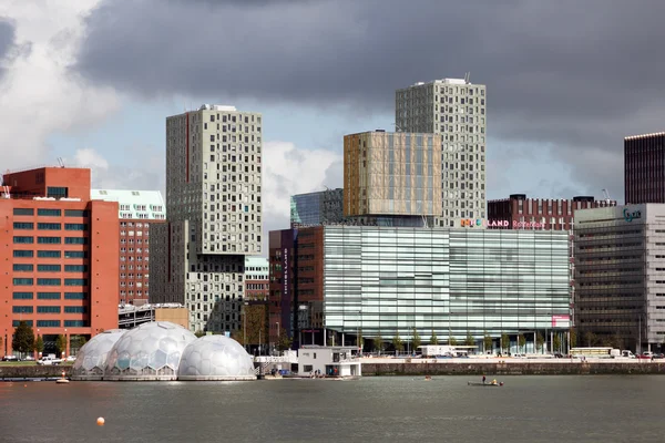
{"label": "white cloud between the left tower and the golden block", "polygon": [[267,142],[264,146],[263,197],[266,230],[289,226],[294,194],[323,190],[341,183],[338,176],[341,155],[326,150],[298,148],[288,142]]}

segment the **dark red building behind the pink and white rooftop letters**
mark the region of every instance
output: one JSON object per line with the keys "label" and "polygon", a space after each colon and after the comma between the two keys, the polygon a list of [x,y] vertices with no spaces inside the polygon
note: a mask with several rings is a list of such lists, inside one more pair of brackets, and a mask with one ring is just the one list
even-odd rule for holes
{"label": "dark red building behind the pink and white rooftop letters", "polygon": [[488,202],[488,229],[571,230],[576,209],[616,206],[616,200],[596,200],[579,196],[572,199],[526,198],[512,194],[509,198]]}

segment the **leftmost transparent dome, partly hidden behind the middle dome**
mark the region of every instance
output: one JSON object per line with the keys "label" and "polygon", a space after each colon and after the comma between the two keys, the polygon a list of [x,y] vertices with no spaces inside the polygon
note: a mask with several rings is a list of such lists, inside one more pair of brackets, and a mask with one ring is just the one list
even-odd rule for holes
{"label": "leftmost transparent dome, partly hidden behind the middle dome", "polygon": [[106,356],[125,332],[125,329],[110,329],[98,333],[83,344],[72,367],[72,379],[102,380],[106,367]]}

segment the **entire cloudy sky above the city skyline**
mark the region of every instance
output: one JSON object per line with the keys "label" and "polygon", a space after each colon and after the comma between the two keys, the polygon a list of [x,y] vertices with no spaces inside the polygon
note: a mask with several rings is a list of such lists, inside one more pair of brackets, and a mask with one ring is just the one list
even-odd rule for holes
{"label": "entire cloudy sky above the city skyline", "polygon": [[490,198],[623,200],[623,137],[665,130],[662,0],[24,3],[0,3],[4,169],[64,157],[163,188],[164,117],[235,104],[264,113],[272,229],[418,81],[487,85]]}

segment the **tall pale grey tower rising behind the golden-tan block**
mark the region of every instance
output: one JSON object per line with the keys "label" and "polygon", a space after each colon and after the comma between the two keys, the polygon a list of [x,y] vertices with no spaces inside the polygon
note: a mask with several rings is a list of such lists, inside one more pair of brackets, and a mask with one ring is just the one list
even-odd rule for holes
{"label": "tall pale grey tower rising behind the golden-tan block", "polygon": [[485,100],[485,86],[468,79],[416,83],[396,92],[397,131],[442,135],[438,226],[487,218]]}

